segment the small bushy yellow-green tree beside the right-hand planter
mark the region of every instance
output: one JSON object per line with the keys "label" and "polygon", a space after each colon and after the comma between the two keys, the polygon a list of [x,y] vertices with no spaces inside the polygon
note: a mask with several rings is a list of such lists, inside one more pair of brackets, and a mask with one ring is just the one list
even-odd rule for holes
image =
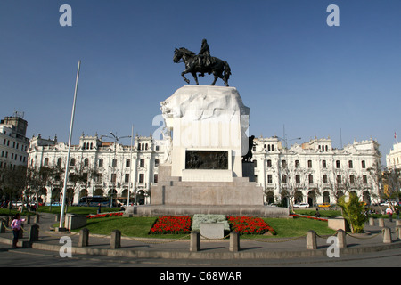
{"label": "small bushy yellow-green tree beside the right-hand planter", "polygon": [[354,192],[350,192],[349,196],[341,196],[337,205],[342,209],[342,216],[348,221],[352,233],[364,232],[364,205],[359,201]]}

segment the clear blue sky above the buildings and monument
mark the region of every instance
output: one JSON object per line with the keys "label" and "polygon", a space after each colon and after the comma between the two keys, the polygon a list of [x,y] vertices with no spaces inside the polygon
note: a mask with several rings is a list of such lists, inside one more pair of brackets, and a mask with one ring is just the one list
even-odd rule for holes
{"label": "clear blue sky above the buildings and monument", "polygon": [[[330,4],[339,27],[326,23]],[[0,117],[24,111],[29,137],[67,142],[81,60],[73,142],[132,124],[149,135],[160,102],[186,85],[174,48],[199,52],[207,38],[250,107],[250,134],[285,126],[289,140],[330,135],[337,148],[372,137],[385,158],[401,136],[400,36],[398,0],[0,0]]]}

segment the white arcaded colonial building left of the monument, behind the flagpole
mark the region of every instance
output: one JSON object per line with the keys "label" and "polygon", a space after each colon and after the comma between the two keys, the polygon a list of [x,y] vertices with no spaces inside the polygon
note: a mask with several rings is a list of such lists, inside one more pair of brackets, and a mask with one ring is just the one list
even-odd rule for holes
{"label": "white arcaded colonial building left of the monument, behind the flagpole", "polygon": [[[102,142],[98,135],[81,135],[78,145],[70,150],[70,177],[83,175],[78,183],[69,179],[69,202],[76,204],[85,196],[112,196],[113,199],[149,204],[151,186],[158,183],[158,167],[165,159],[163,141],[151,136],[135,136],[133,147],[117,142]],[[41,136],[33,137],[29,147],[29,167],[61,169],[61,173],[38,191],[37,199],[46,203],[61,201],[63,169],[66,167],[68,145]]]}

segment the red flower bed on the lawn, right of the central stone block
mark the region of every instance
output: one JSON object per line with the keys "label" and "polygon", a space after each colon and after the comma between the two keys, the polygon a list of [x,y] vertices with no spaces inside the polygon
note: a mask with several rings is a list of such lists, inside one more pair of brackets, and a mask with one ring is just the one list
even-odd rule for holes
{"label": "red flower bed on the lawn, right of the central stone block", "polygon": [[275,234],[274,229],[258,217],[227,216],[227,221],[233,231],[240,234],[263,234],[266,232]]}

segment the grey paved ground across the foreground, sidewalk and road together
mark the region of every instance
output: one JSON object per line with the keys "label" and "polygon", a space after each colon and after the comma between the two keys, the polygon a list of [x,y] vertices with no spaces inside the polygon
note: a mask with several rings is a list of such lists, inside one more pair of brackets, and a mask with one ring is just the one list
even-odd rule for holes
{"label": "grey paved ground across the foreground, sidewalk and road together", "polygon": [[[250,240],[242,239],[238,252],[230,251],[230,241],[201,239],[201,249],[197,252],[190,251],[190,240],[161,240],[143,238],[121,238],[121,248],[110,249],[110,236],[90,235],[87,247],[78,247],[79,234],[76,232],[53,232],[50,226],[55,223],[55,216],[41,214],[39,225],[39,239],[29,243],[29,228],[32,224],[26,224],[24,238],[20,239],[21,248],[12,249],[12,232],[0,233],[1,251],[0,262],[8,256],[22,256],[32,253],[31,266],[44,266],[36,262],[37,256],[46,256],[60,259],[70,259],[69,265],[74,265],[74,260],[103,260],[112,261],[115,265],[124,266],[261,266],[261,265],[288,265],[288,266],[319,266],[340,265],[344,260],[363,260],[362,256],[378,256],[399,260],[391,262],[393,266],[401,265],[401,240],[397,239],[396,222],[385,226],[391,229],[391,243],[383,243],[382,228],[376,224],[366,225],[364,235],[347,235],[347,248],[339,251],[339,257],[328,256],[332,252],[328,237],[316,238],[316,249],[307,249],[306,237],[292,239],[268,239]],[[68,237],[71,241],[70,257],[62,258],[62,253],[67,253],[65,242],[62,239]],[[64,247],[64,248],[63,248]],[[64,250],[65,249],[65,250]],[[75,258],[75,259],[74,259]],[[78,258],[78,259],[77,259]],[[80,258],[80,259],[79,259]],[[8,258],[10,259],[10,258]],[[10,259],[11,260],[11,259]],[[62,262],[66,262],[66,261]],[[79,261],[78,261],[79,260]],[[61,261],[61,260],[60,260]],[[117,262],[117,264],[116,264]],[[100,262],[102,264],[102,262]],[[377,265],[372,263],[373,265]],[[53,264],[55,265],[55,264]],[[380,265],[380,264],[379,264]],[[84,265],[85,266],[85,265]]]}

